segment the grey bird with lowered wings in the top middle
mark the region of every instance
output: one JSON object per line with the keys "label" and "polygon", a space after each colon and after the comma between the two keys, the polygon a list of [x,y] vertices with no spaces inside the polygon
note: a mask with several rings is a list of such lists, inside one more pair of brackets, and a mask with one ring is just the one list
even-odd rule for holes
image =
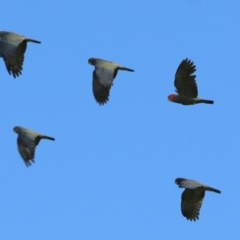
{"label": "grey bird with lowered wings in the top middle", "polygon": [[100,105],[104,105],[109,100],[110,89],[118,70],[134,72],[134,70],[120,64],[99,58],[89,58],[88,63],[95,66],[92,82],[93,95]]}

